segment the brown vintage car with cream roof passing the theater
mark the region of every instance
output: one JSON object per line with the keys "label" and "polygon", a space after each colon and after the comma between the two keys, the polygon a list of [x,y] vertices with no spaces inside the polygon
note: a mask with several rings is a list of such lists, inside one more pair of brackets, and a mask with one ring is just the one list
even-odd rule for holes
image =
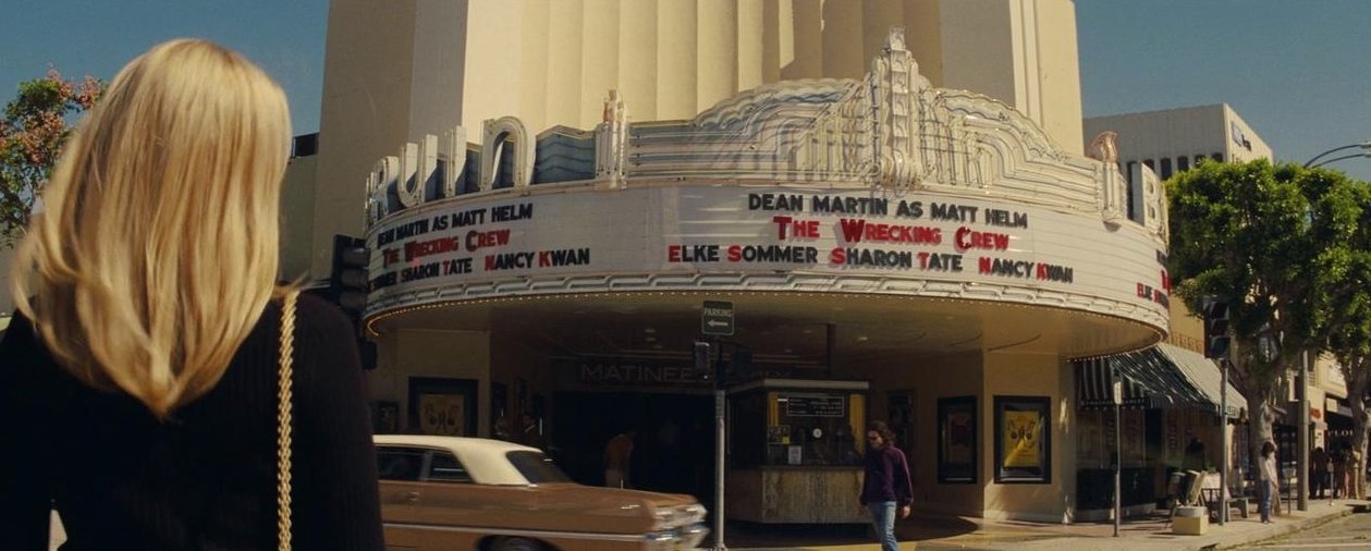
{"label": "brown vintage car with cream roof passing the theater", "polygon": [[690,550],[709,530],[687,495],[573,482],[537,448],[377,434],[388,550]]}

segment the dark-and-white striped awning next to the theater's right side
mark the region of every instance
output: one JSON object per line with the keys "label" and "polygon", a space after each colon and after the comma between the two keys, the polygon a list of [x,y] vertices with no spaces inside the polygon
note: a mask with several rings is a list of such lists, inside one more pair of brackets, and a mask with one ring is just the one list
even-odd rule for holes
{"label": "dark-and-white striped awning next to the theater's right side", "polygon": [[[1137,352],[1076,360],[1076,393],[1084,410],[1113,407],[1112,367],[1124,380],[1126,407],[1194,408],[1219,414],[1219,366],[1200,354],[1158,344]],[[1227,417],[1238,417],[1248,400],[1228,384]]]}

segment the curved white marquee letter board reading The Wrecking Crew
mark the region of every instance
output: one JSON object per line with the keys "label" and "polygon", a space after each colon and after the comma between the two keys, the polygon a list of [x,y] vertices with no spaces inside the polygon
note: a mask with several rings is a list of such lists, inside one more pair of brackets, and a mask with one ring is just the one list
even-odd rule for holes
{"label": "curved white marquee letter board reading The Wrecking Crew", "polygon": [[1056,306],[1167,328],[1164,256],[1098,212],[803,185],[553,186],[387,217],[369,317],[473,299],[805,291]]}

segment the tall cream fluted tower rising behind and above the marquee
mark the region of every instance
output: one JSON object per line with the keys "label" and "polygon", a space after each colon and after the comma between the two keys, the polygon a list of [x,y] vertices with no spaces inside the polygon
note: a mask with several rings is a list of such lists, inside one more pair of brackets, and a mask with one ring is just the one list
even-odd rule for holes
{"label": "tall cream fluted tower rising behind and above the marquee", "polygon": [[287,217],[288,276],[328,277],[396,144],[454,126],[478,141],[503,115],[591,127],[609,89],[635,119],[690,119],[766,82],[861,78],[894,26],[934,86],[1013,106],[1079,154],[1071,0],[335,0],[318,159],[292,166],[314,185]]}

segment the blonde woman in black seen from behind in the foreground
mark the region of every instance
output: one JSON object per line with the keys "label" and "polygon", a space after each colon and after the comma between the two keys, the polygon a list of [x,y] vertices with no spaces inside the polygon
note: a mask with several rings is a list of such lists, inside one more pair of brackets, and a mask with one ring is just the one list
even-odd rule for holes
{"label": "blonde woman in black seen from behind in the foreground", "polygon": [[[175,40],[114,78],[58,162],[15,258],[0,341],[0,548],[277,543],[278,197],[285,96]],[[380,550],[350,323],[295,321],[293,543]]]}

